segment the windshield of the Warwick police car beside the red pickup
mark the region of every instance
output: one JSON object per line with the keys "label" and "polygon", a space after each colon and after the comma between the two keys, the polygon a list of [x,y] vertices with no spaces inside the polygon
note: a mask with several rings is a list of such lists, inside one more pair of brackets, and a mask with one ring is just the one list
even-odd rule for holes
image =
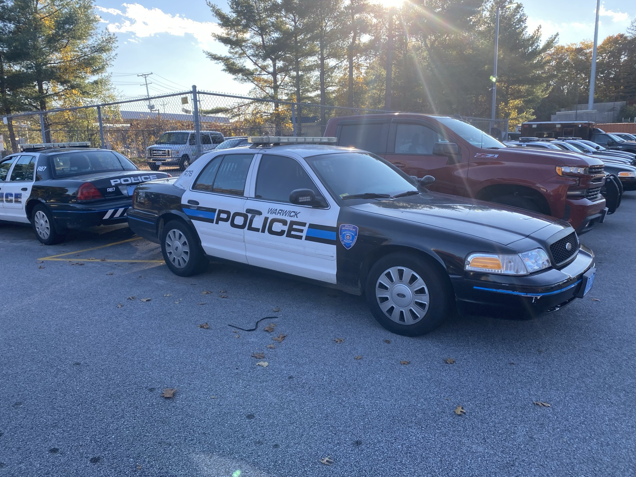
{"label": "windshield of the Warwick police car beside the red pickup", "polygon": [[[417,189],[410,178],[402,176],[387,162],[365,153],[338,153],[308,157],[307,163],[322,183],[340,198],[349,195],[373,199]],[[374,197],[371,197],[374,196]]]}

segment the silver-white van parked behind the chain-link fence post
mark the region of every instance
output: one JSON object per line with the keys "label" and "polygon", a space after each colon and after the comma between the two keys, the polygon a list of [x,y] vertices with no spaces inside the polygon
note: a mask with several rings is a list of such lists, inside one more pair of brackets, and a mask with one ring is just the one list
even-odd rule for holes
{"label": "silver-white van parked behind the chain-link fence post", "polygon": [[[201,131],[202,151],[211,151],[224,139],[218,131]],[[146,148],[146,160],[151,170],[159,170],[162,165],[178,165],[179,170],[186,170],[196,158],[194,131],[166,131],[155,144]]]}

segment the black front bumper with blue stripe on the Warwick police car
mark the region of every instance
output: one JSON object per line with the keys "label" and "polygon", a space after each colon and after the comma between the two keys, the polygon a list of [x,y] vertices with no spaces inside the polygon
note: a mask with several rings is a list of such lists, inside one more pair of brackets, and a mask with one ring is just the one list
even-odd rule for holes
{"label": "black front bumper with blue stripe on the Warwick police car", "polygon": [[532,319],[582,296],[587,280],[584,274],[593,266],[594,253],[581,245],[574,261],[560,270],[551,268],[520,277],[466,272],[451,280],[462,314]]}

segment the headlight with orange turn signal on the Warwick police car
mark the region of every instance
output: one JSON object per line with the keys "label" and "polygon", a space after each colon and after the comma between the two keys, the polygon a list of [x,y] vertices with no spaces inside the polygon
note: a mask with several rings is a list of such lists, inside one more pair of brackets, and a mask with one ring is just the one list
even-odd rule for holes
{"label": "headlight with orange turn signal on the Warwick police car", "polygon": [[471,253],[466,258],[465,270],[502,275],[527,275],[551,266],[543,249],[534,249],[516,255]]}

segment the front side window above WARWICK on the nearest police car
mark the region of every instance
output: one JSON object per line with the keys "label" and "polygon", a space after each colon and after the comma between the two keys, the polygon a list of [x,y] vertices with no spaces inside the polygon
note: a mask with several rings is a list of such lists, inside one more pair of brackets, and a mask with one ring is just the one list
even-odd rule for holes
{"label": "front side window above WARWICK on the nearest police car", "polygon": [[276,202],[289,202],[296,189],[311,189],[321,193],[298,161],[291,157],[264,155],[256,176],[256,197]]}

